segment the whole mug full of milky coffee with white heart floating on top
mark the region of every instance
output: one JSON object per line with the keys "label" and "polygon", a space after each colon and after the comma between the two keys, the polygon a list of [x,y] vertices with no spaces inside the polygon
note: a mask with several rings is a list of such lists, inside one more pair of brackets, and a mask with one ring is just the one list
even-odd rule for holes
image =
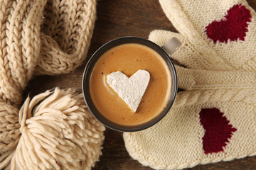
{"label": "whole mug full of milky coffee with white heart floating on top", "polygon": [[[137,37],[117,38],[102,45],[87,62],[82,77],[82,93],[92,115],[108,128],[122,132],[144,130],[158,123],[169,112],[177,93],[176,71],[169,55],[180,45],[176,38],[159,47]],[[138,70],[150,75],[146,89],[141,86],[145,82]],[[108,77],[113,73],[125,82],[112,77],[112,86]],[[127,83],[129,79],[134,79],[134,84]],[[141,98],[136,101],[132,95]],[[129,102],[137,108],[131,109]]]}

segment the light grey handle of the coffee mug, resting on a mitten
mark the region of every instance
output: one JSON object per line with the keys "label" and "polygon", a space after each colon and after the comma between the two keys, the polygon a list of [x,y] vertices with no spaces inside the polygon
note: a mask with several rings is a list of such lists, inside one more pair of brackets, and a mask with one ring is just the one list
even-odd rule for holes
{"label": "light grey handle of the coffee mug, resting on a mitten", "polygon": [[181,41],[175,37],[171,38],[163,46],[161,46],[169,57],[171,57],[171,55],[173,55],[179,47],[181,47]]}

